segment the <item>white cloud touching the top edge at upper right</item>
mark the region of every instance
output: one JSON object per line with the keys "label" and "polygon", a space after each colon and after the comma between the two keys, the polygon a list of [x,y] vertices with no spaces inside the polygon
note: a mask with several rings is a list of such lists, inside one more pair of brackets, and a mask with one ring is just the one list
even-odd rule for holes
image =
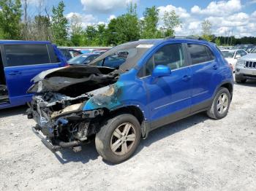
{"label": "white cloud touching the top edge at upper right", "polygon": [[191,12],[200,15],[230,15],[230,13],[238,12],[242,9],[240,0],[229,1],[211,1],[205,9],[195,5],[191,8]]}

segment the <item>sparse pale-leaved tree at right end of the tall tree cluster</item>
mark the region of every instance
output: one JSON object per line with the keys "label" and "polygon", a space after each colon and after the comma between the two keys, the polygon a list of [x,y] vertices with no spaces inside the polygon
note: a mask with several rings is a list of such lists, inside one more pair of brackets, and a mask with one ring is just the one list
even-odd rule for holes
{"label": "sparse pale-leaved tree at right end of the tall tree cluster", "polygon": [[176,12],[174,10],[170,12],[165,11],[163,21],[164,26],[162,27],[162,30],[165,37],[174,36],[174,29],[181,26],[181,20],[179,19],[178,15],[176,15]]}

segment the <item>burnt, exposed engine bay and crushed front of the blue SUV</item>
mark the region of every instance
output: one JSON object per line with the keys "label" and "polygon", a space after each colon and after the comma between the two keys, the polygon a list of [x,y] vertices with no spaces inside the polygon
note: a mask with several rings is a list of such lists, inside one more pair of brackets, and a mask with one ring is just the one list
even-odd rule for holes
{"label": "burnt, exposed engine bay and crushed front of the blue SUV", "polygon": [[44,71],[34,77],[28,92],[35,93],[27,111],[54,145],[75,147],[97,132],[104,109],[84,111],[90,98],[115,92],[116,69],[99,66],[71,66]]}

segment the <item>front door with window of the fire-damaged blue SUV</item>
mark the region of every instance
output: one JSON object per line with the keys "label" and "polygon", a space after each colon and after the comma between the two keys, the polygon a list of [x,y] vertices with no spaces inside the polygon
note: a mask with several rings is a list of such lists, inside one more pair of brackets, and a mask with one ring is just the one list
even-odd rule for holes
{"label": "front door with window of the fire-damaged blue SUV", "polygon": [[[157,65],[169,66],[172,73],[167,77],[153,79],[152,71]],[[173,122],[189,114],[191,105],[191,71],[183,44],[165,44],[147,61],[145,83],[148,109],[152,128]]]}

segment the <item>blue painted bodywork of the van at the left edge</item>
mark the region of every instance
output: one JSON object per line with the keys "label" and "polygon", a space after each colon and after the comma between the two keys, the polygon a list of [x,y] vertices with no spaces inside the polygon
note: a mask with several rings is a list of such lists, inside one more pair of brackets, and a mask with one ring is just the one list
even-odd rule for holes
{"label": "blue painted bodywork of the van at the left edge", "polygon": [[[7,65],[7,59],[4,57],[4,45],[5,44],[45,44],[48,46],[52,46],[54,53],[59,58],[58,63],[46,63],[46,64],[36,64],[36,65],[26,65],[26,66],[8,66]],[[20,106],[26,104],[26,102],[31,101],[31,97],[33,94],[28,94],[26,91],[33,85],[31,82],[31,79],[35,77],[37,74],[39,74],[42,71],[48,70],[48,69],[54,69],[58,67],[63,67],[67,65],[67,61],[64,58],[64,55],[61,54],[61,52],[58,50],[56,45],[51,44],[50,42],[36,42],[36,41],[0,41],[0,50],[1,55],[3,55],[2,62],[4,64],[4,74],[1,74],[1,68],[0,68],[0,74],[5,75],[5,81],[7,84],[7,89],[9,93],[10,103],[8,104],[0,104],[0,109],[12,107],[12,106]],[[48,55],[45,55],[48,56]],[[10,58],[9,58],[10,59]],[[20,58],[22,60],[22,55],[20,55]],[[1,66],[1,65],[0,65]],[[1,76],[3,77],[3,76]],[[1,79],[0,77],[0,79]],[[1,82],[1,81],[0,81]]]}

